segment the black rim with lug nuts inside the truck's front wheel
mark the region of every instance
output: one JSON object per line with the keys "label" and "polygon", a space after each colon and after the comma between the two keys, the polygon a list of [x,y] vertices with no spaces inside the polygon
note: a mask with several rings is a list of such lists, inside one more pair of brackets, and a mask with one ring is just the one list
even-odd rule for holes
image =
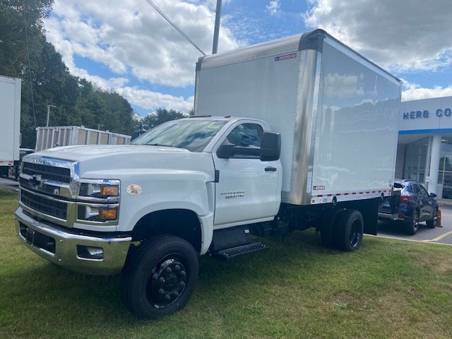
{"label": "black rim with lug nuts inside the truck's front wheel", "polygon": [[189,271],[180,254],[168,254],[150,271],[146,284],[148,302],[156,309],[170,307],[184,293]]}

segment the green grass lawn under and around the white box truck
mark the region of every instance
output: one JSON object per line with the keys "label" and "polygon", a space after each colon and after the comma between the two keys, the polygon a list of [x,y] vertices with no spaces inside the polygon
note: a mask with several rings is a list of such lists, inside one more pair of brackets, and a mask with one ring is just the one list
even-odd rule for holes
{"label": "green grass lawn under and around the white box truck", "polygon": [[201,258],[185,309],[139,321],[119,276],[64,270],[16,239],[16,193],[0,189],[0,338],[452,338],[452,246],[366,237],[354,254],[315,232],[266,251]]}

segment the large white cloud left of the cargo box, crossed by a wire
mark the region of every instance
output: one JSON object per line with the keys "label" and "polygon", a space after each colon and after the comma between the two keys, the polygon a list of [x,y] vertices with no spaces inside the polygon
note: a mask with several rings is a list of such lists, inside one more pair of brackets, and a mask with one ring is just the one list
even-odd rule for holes
{"label": "large white cloud left of the cargo box, crossed by a wire", "polygon": [[[209,53],[215,12],[209,8],[211,1],[194,2],[161,0],[159,6]],[[73,61],[78,55],[121,77],[130,73],[141,81],[175,87],[194,83],[194,66],[201,54],[146,1],[56,0],[45,28],[47,40],[76,75],[81,72]],[[230,30],[221,27],[219,49],[238,44]]]}

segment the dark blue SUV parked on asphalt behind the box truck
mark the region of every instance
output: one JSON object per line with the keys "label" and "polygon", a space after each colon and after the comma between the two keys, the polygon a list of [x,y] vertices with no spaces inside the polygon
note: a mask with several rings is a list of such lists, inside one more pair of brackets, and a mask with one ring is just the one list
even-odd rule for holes
{"label": "dark blue SUV parked on asphalt behind the box truck", "polygon": [[416,234],[419,222],[425,221],[429,228],[436,226],[436,194],[429,194],[427,189],[415,180],[396,180],[394,190],[398,194],[385,199],[379,208],[380,220],[402,222],[409,234]]}

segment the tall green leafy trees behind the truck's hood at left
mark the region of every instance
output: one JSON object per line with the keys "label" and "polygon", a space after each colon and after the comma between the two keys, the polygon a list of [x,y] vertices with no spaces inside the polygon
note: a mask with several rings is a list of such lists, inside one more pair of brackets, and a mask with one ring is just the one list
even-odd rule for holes
{"label": "tall green leafy trees behind the truck's hood at left", "polygon": [[50,114],[51,126],[102,125],[102,129],[130,134],[135,126],[129,102],[72,76],[61,55],[45,40],[42,23],[52,4],[53,0],[0,0],[0,74],[23,80],[22,147],[34,148],[35,126],[45,126],[47,105],[56,106]]}

